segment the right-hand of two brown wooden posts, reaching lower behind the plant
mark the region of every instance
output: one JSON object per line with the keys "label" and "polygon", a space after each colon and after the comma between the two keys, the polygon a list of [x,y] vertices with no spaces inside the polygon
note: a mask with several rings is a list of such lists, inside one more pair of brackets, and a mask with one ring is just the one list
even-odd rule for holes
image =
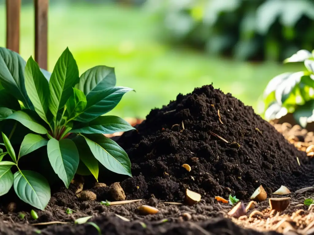
{"label": "right-hand of two brown wooden posts, reaching lower behind the plant", "polygon": [[47,69],[48,5],[49,0],[35,0],[35,60],[43,69]]}

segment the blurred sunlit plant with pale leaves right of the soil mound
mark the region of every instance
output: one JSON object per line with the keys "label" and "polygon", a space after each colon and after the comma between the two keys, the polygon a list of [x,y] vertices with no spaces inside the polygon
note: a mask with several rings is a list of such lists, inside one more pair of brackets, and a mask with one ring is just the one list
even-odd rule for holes
{"label": "blurred sunlit plant with pale leaves right of the soil mound", "polygon": [[269,81],[263,92],[264,118],[279,119],[292,113],[302,127],[314,121],[314,51],[300,50],[284,63],[304,62],[300,72],[287,72]]}

